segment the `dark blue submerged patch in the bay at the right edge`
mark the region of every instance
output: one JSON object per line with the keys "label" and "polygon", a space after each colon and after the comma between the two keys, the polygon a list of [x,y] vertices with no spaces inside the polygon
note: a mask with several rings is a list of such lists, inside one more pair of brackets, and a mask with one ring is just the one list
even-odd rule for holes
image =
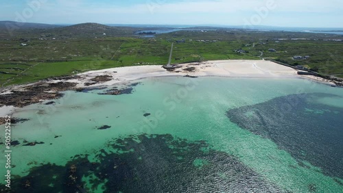
{"label": "dark blue submerged patch in the bay at the right edge", "polygon": [[311,102],[327,97],[343,101],[343,97],[334,94],[290,94],[230,109],[226,115],[242,129],[272,140],[291,154],[299,166],[310,168],[311,164],[324,175],[342,179],[343,110]]}

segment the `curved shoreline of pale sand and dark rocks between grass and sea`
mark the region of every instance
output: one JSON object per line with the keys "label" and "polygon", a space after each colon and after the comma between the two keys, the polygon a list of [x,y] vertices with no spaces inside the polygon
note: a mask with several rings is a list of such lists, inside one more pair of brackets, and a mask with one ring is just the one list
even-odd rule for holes
{"label": "curved shoreline of pale sand and dark rocks between grass and sea", "polygon": [[[57,77],[26,85],[10,86],[0,90],[0,98],[10,97],[14,91],[27,95],[25,95],[25,99],[22,99],[24,96],[17,94],[16,97],[19,100],[24,100],[24,102],[12,100],[14,105],[9,105],[10,103],[6,102],[3,104],[1,101],[0,118],[13,114],[25,105],[40,103],[48,99],[58,99],[57,97],[60,96],[57,95],[62,91],[113,86],[118,83],[154,77],[300,78],[335,86],[335,83],[327,79],[313,75],[298,75],[298,70],[268,60],[214,60],[180,64],[180,66],[181,68],[172,71],[165,70],[162,66],[125,66],[93,70],[75,76]],[[36,89],[36,92],[25,92],[32,89]]]}

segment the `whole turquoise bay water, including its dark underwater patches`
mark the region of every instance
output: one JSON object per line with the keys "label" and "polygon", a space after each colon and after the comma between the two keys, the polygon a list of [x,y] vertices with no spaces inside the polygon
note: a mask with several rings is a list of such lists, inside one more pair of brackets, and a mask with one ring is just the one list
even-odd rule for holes
{"label": "whole turquoise bay water, including its dark underwater patches", "polygon": [[[132,94],[70,91],[56,105],[16,112],[29,120],[12,127],[20,142],[12,147],[14,188],[343,191],[342,88],[304,79],[137,82]],[[99,129],[104,125],[110,128]],[[23,146],[30,142],[44,144]]]}

